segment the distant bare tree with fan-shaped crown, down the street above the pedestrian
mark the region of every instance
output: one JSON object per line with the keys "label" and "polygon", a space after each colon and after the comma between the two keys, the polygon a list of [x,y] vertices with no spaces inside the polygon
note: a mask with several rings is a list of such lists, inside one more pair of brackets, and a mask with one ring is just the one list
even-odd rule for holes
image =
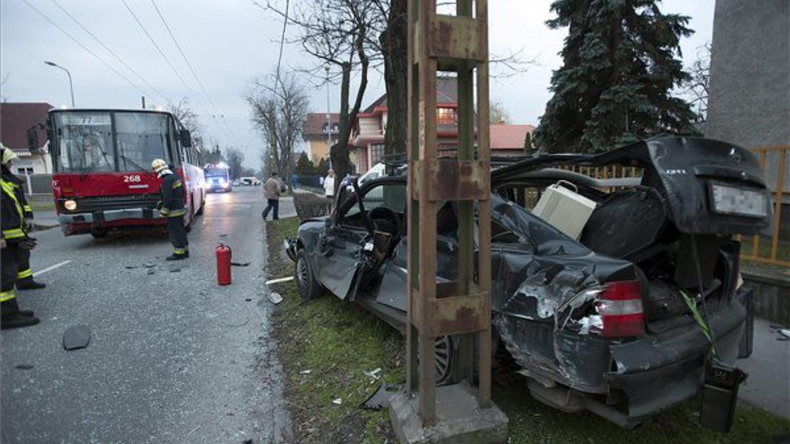
{"label": "distant bare tree with fan-shaped crown, down the street above the pedestrian", "polygon": [[292,74],[281,76],[280,81],[275,81],[275,77],[253,81],[246,101],[252,121],[265,140],[263,164],[269,171],[279,171],[290,189],[294,146],[299,141],[310,98]]}

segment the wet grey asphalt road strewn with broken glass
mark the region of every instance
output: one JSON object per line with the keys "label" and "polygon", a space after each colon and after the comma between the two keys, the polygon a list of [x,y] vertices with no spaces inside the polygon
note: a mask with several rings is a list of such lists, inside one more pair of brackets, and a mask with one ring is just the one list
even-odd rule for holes
{"label": "wet grey asphalt road strewn with broken glass", "polygon": [[[152,232],[36,233],[34,272],[70,262],[37,277],[47,288],[18,293],[41,324],[0,333],[2,442],[287,440],[267,341],[264,206],[261,188],[210,194],[182,262],[165,262],[171,246]],[[280,209],[292,213],[291,202]],[[250,262],[232,267],[228,287],[216,284],[218,242]],[[66,352],[62,334],[77,324],[91,343]]]}

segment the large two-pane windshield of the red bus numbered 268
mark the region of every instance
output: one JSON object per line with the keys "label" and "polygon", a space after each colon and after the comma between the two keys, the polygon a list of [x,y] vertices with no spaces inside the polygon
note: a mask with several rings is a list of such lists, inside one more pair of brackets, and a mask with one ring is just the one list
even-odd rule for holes
{"label": "large two-pane windshield of the red bus numbered 268", "polygon": [[147,171],[157,158],[173,164],[170,153],[175,139],[167,118],[134,111],[55,112],[55,167],[86,173]]}

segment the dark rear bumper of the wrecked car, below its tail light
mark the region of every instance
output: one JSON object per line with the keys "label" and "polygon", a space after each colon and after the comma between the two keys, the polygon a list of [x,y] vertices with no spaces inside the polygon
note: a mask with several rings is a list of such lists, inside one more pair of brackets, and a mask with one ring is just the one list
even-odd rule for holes
{"label": "dark rear bumper of the wrecked car, below its tail light", "polygon": [[[720,360],[735,363],[738,359],[743,335],[751,327],[746,322],[750,316],[746,307],[735,300],[723,303],[710,314],[709,325]],[[649,416],[698,392],[705,378],[708,350],[709,342],[696,324],[626,344],[612,344],[610,352],[616,371],[604,374],[604,380],[628,397],[629,419]]]}

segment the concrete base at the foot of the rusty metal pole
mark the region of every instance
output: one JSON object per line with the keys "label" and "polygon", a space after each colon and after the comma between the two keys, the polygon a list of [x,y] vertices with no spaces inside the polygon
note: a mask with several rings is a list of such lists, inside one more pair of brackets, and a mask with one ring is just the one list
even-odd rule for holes
{"label": "concrete base at the foot of the rusty metal pole", "polygon": [[507,441],[507,416],[495,404],[480,405],[467,382],[436,388],[436,423],[423,427],[419,398],[398,394],[389,417],[401,444],[487,444]]}

